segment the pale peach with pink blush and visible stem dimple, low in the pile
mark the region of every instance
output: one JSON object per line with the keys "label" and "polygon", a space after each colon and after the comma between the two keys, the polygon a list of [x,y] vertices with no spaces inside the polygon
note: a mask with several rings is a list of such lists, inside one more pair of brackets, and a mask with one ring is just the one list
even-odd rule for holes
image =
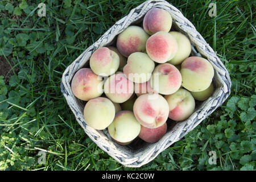
{"label": "pale peach with pink blush and visible stem dimple, low in the pile", "polygon": [[134,102],[133,111],[141,125],[155,129],[167,121],[169,106],[159,94],[143,94]]}

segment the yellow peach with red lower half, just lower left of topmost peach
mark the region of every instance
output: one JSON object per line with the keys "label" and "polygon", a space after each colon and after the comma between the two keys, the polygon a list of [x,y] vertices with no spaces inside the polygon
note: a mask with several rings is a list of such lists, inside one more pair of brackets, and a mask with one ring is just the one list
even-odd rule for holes
{"label": "yellow peach with red lower half, just lower left of topmost peach", "polygon": [[147,33],[138,26],[129,26],[117,36],[117,49],[125,57],[134,52],[144,52]]}

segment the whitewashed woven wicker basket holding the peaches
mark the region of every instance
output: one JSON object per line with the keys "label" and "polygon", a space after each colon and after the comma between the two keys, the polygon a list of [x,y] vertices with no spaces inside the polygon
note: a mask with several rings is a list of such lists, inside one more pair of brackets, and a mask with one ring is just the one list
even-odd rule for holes
{"label": "whitewashed woven wicker basket holding the peaches", "polygon": [[[203,56],[210,61],[214,68],[214,93],[207,101],[196,103],[195,112],[186,121],[173,122],[167,121],[167,133],[162,139],[156,143],[146,143],[137,138],[128,146],[120,146],[112,141],[108,130],[94,130],[86,125],[83,116],[85,102],[77,99],[71,90],[71,81],[73,75],[82,67],[89,67],[90,56],[96,49],[104,46],[110,46],[115,43],[116,37],[130,24],[141,24],[143,16],[152,7],[159,7],[167,10],[173,19],[172,30],[180,31],[187,35],[192,43],[192,56]],[[107,152],[119,163],[127,167],[141,167],[150,162],[160,152],[170,147],[171,144],[183,138],[189,131],[193,130],[201,121],[208,117],[214,110],[220,106],[230,94],[231,81],[229,73],[221,63],[216,53],[205,42],[204,38],[196,31],[195,26],[176,7],[170,5],[166,1],[146,1],[131,10],[130,13],[114,24],[100,39],[92,46],[86,49],[77,57],[71,65],[65,69],[61,82],[61,92],[63,92],[67,103],[75,114],[77,122],[84,129],[90,139],[95,142],[98,147]]]}

